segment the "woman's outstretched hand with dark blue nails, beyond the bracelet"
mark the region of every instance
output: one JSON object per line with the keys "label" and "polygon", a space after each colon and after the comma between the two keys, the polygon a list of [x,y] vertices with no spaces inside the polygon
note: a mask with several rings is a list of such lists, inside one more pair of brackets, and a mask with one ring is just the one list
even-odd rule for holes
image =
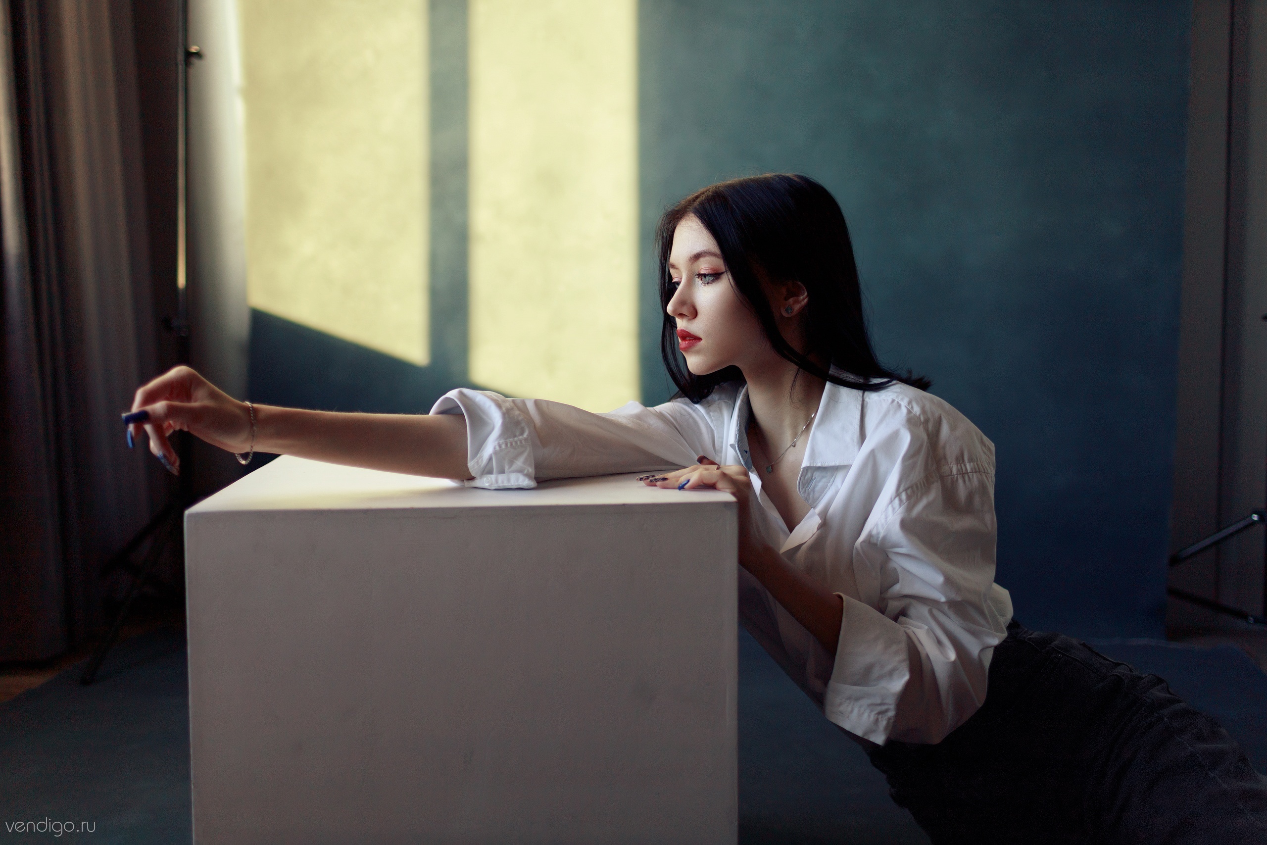
{"label": "woman's outstretched hand with dark blue nails, beyond the bracelet", "polygon": [[167,436],[188,431],[229,452],[245,452],[251,446],[251,414],[245,402],[229,397],[188,366],[163,372],[137,390],[132,412],[144,412],[143,421],[128,426],[136,436],[143,428],[150,451],[172,473],[180,471],[180,459]]}

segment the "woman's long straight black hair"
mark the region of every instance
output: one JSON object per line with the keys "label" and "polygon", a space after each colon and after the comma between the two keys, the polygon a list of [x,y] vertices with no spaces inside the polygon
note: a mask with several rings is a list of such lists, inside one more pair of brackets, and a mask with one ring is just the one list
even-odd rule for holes
{"label": "woman's long straight black hair", "polygon": [[[674,294],[669,272],[673,233],[688,215],[696,217],[717,241],[731,284],[782,357],[825,381],[856,390],[879,390],[892,381],[921,390],[931,386],[924,376],[893,372],[875,359],[849,227],[836,199],[817,181],[796,174],[732,179],[698,190],[665,212],[656,228],[661,312]],[[805,285],[806,355],[797,352],[779,332],[761,289],[761,276],[772,283]],[[707,375],[691,372],[678,351],[677,329],[677,321],[664,312],[660,353],[679,395],[699,402],[718,384],[744,380],[736,366]],[[818,361],[849,375],[835,375]]]}

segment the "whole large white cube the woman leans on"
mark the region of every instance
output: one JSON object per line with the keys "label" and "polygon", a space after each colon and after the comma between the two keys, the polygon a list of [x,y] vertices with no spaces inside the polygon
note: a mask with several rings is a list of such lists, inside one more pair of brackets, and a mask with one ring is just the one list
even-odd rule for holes
{"label": "whole large white cube the woman leans on", "polygon": [[194,839],[737,839],[736,505],[281,457],[185,517]]}

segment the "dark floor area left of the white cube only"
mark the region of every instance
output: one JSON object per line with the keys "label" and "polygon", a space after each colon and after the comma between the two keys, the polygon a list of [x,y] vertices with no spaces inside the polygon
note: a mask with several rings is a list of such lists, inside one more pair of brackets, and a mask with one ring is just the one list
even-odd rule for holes
{"label": "dark floor area left of the white cube only", "polygon": [[185,665],[184,636],[156,631],[117,645],[91,687],[80,663],[0,704],[0,823],[95,825],[52,841],[189,842]]}

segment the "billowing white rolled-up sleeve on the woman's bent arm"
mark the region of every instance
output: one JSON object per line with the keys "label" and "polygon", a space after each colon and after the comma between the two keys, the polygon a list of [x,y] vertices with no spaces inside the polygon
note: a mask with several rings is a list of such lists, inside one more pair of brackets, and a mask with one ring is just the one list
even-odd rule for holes
{"label": "billowing white rolled-up sleeve on the woman's bent arm", "polygon": [[844,597],[824,711],[873,742],[939,742],[984,702],[1011,614],[993,584],[993,466],[934,469],[879,517],[854,552],[877,600]]}

